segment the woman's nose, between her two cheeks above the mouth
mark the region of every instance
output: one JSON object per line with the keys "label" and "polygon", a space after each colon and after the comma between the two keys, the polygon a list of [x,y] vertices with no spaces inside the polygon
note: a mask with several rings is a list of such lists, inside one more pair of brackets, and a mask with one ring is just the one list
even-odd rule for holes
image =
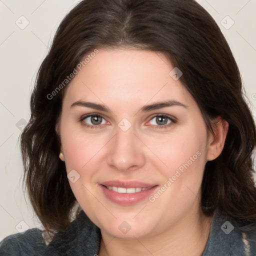
{"label": "woman's nose, between her two cheeks above the mouth", "polygon": [[127,131],[117,127],[109,148],[107,163],[119,171],[135,170],[145,163],[145,145],[134,134],[132,127]]}

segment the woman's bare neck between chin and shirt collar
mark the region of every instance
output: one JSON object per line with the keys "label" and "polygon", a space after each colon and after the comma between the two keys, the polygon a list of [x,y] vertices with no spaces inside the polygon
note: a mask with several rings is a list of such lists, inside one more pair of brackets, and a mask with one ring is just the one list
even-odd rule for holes
{"label": "woman's bare neck between chin and shirt collar", "polygon": [[101,230],[99,256],[154,255],[200,256],[207,243],[212,217],[201,210],[182,218],[161,233],[144,238],[122,239]]}

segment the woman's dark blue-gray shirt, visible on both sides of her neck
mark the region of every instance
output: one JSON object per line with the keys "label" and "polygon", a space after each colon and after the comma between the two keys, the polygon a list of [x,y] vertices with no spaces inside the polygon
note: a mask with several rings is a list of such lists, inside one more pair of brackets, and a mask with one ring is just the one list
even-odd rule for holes
{"label": "woman's dark blue-gray shirt, visible on both sides of her neck", "polygon": [[[5,237],[0,242],[0,256],[71,255],[96,256],[100,229],[81,211],[65,230],[57,233],[46,246],[41,232],[31,228]],[[213,215],[210,235],[201,256],[256,256],[256,231],[242,231],[231,217],[219,210]]]}

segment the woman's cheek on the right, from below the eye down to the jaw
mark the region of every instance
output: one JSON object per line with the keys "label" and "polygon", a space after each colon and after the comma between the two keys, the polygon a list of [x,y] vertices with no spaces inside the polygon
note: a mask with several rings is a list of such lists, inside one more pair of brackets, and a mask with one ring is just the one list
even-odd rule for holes
{"label": "woman's cheek on the right, from below the eye down to the jaw", "polygon": [[166,211],[175,210],[177,215],[191,207],[200,191],[207,134],[204,122],[201,121],[201,125],[198,123],[180,128],[175,136],[160,141],[159,146],[155,147],[155,154],[161,159],[161,162],[158,160],[157,169],[164,177],[160,185],[163,192],[159,191],[150,199],[159,205],[168,202]]}

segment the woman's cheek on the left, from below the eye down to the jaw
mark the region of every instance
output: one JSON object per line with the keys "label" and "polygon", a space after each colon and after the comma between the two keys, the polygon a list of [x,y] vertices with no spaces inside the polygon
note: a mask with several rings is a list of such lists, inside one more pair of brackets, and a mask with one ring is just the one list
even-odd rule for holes
{"label": "woman's cheek on the left, from below the eye down to the jaw", "polygon": [[[95,168],[100,168],[102,161],[99,156],[100,149],[104,149],[104,140],[100,136],[85,134],[81,132],[70,132],[70,127],[62,130],[62,147],[65,156],[67,173],[75,170],[78,179],[69,184],[79,205],[90,216],[90,219],[97,222],[95,212],[98,210],[98,203],[95,201]],[[95,141],[95,138],[96,141]],[[77,174],[78,173],[78,174]]]}

